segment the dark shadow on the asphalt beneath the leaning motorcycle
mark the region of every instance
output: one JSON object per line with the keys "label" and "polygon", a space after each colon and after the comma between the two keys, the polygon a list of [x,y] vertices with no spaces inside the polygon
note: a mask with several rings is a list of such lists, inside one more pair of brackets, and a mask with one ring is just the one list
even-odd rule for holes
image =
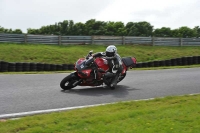
{"label": "dark shadow on the asphalt beneath the leaning motorcycle", "polygon": [[85,96],[103,96],[103,95],[113,95],[115,97],[121,98],[129,94],[129,91],[138,90],[125,85],[117,85],[115,90],[111,90],[109,87],[84,87],[81,89],[71,89],[71,90],[61,90],[61,92],[66,94],[78,94]]}

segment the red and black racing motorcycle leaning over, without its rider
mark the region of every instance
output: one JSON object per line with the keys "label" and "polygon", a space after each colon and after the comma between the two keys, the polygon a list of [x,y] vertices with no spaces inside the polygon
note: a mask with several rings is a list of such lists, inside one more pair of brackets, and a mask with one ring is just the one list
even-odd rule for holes
{"label": "red and black racing motorcycle leaning over, without its rider", "polygon": [[[70,90],[76,86],[110,86],[112,78],[115,76],[114,69],[110,70],[106,57],[92,56],[90,51],[86,58],[80,58],[74,65],[75,71],[66,76],[61,82],[60,87],[63,90]],[[119,74],[117,83],[122,81],[127,70],[132,69],[136,65],[135,57],[123,57],[123,70]],[[112,89],[112,88],[111,88]]]}

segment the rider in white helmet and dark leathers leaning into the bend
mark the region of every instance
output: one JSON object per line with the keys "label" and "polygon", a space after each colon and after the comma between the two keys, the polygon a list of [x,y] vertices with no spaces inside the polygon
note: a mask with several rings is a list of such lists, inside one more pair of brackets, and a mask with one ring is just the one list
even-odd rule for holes
{"label": "rider in white helmet and dark leathers leaning into the bend", "polygon": [[106,48],[105,52],[99,52],[93,55],[93,57],[101,57],[101,56],[104,56],[105,59],[107,59],[110,68],[109,72],[107,72],[105,76],[108,75],[110,72],[113,73],[114,75],[111,80],[110,88],[115,89],[118,77],[123,70],[121,57],[117,53],[117,48],[114,45],[109,45]]}

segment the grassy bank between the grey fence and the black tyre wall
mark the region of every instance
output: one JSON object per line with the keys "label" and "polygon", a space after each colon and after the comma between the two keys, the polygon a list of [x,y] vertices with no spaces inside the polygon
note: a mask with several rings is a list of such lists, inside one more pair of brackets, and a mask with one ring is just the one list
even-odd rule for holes
{"label": "grassy bank between the grey fence and the black tyre wall", "polygon": [[[42,45],[0,43],[0,60],[8,62],[41,62],[73,64],[90,50],[105,51],[105,45]],[[200,47],[117,45],[121,57],[134,56],[138,62],[199,56]]]}

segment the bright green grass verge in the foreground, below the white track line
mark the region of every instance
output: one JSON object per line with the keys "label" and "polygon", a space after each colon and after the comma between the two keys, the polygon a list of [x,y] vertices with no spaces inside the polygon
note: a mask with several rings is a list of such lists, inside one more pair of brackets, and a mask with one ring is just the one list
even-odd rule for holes
{"label": "bright green grass verge in the foreground, below the white track line", "polygon": [[200,95],[130,101],[0,122],[2,133],[199,133]]}

